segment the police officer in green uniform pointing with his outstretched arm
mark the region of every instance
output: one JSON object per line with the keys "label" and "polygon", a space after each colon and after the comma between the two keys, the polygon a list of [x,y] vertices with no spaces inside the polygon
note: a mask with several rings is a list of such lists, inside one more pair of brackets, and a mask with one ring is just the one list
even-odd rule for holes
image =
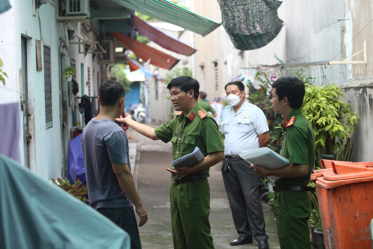
{"label": "police officer in green uniform pointing with his outstretched arm", "polygon": [[152,140],[172,143],[174,160],[201,150],[204,159],[193,167],[167,168],[171,174],[170,203],[175,249],[214,248],[211,227],[209,168],[224,159],[224,147],[215,119],[197,103],[199,83],[189,76],[173,79],[167,88],[176,111],[172,120],[154,129],[128,115],[116,119]]}

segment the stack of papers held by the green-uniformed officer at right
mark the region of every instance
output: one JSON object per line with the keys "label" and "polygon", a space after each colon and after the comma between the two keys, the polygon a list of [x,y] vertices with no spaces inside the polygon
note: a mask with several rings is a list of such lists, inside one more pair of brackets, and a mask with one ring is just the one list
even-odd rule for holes
{"label": "stack of papers held by the green-uniformed officer at right", "polygon": [[[289,160],[268,147],[240,153],[239,155],[250,164],[262,166],[266,169],[279,169],[289,165]],[[281,177],[268,176],[268,178],[275,182]]]}

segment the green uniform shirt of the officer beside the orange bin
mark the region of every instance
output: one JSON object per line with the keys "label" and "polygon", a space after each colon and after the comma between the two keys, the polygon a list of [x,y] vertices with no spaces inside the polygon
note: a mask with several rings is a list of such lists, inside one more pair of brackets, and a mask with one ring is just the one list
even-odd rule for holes
{"label": "green uniform shirt of the officer beside the orange bin", "polygon": [[[295,118],[294,123],[286,127],[292,118]],[[309,168],[307,175],[281,178],[276,181],[276,185],[306,186],[310,182],[315,162],[315,134],[312,126],[300,108],[291,111],[281,126],[284,131],[284,141],[280,154],[289,159],[290,164],[304,164]]]}

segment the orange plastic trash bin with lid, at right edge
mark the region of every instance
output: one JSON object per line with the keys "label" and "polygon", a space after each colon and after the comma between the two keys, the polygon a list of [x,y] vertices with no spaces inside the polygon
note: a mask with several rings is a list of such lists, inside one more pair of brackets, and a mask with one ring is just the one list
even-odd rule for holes
{"label": "orange plastic trash bin with lid, at right edge", "polygon": [[373,168],[361,163],[333,161],[314,175],[326,248],[371,247]]}

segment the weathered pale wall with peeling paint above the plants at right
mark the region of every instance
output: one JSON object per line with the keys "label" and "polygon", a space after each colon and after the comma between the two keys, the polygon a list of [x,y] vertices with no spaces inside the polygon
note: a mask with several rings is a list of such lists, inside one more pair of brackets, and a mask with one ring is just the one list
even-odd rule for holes
{"label": "weathered pale wall with peeling paint above the plants at right", "polygon": [[[345,101],[351,103],[360,117],[354,133],[354,161],[373,161],[373,51],[369,49],[373,47],[371,1],[291,0],[284,4],[288,64],[344,60],[362,50],[366,40],[366,64],[304,67],[315,78],[315,85],[336,83],[346,89]],[[351,60],[364,60],[363,53]]]}

